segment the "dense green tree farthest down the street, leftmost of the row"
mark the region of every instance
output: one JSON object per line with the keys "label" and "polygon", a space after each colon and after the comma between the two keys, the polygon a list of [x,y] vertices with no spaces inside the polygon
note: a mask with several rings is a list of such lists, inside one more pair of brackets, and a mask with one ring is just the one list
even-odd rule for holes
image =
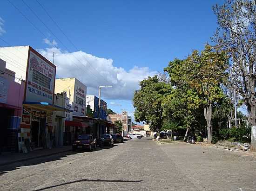
{"label": "dense green tree farthest down the street, leftmost of the row", "polygon": [[153,131],[159,132],[163,122],[162,102],[172,88],[170,84],[160,82],[157,76],[142,80],[140,86],[133,98],[135,121],[146,121]]}

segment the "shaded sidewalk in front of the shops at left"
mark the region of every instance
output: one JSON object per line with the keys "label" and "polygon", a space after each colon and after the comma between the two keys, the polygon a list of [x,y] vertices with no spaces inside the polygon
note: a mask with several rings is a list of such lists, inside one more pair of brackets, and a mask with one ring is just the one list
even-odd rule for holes
{"label": "shaded sidewalk in front of the shops at left", "polygon": [[61,148],[43,149],[32,151],[29,153],[1,153],[0,154],[0,166],[9,165],[15,162],[21,162],[25,160],[46,157],[57,153],[65,153],[71,151],[72,146],[63,146]]}

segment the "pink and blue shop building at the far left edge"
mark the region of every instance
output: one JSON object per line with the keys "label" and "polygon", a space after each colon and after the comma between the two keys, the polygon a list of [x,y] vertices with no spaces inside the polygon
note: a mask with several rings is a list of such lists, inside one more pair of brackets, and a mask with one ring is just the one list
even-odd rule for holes
{"label": "pink and blue shop building at the far left edge", "polygon": [[8,70],[6,62],[0,59],[0,152],[18,151],[24,90],[25,81],[16,83],[15,72]]}

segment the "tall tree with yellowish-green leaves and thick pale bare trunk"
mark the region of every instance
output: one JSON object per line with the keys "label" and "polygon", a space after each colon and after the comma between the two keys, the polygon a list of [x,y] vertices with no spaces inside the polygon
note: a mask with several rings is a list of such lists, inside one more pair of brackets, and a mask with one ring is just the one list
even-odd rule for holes
{"label": "tall tree with yellowish-green leaves and thick pale bare trunk", "polygon": [[216,51],[208,44],[201,53],[195,50],[187,59],[178,63],[170,62],[165,68],[174,85],[187,85],[188,109],[202,106],[209,143],[212,142],[212,106],[224,96],[221,84],[227,78],[227,68],[228,57],[225,52]]}

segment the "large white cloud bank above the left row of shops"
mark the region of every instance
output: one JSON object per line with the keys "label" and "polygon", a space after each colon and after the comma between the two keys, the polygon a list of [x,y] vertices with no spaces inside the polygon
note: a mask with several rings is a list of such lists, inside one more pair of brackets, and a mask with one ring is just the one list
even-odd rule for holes
{"label": "large white cloud bank above the left row of shops", "polygon": [[130,70],[115,67],[112,59],[95,57],[83,51],[67,52],[56,47],[39,51],[51,61],[53,52],[57,53],[54,58],[56,77],[76,77],[88,87],[90,95],[98,95],[99,85],[112,85],[112,88],[101,89],[101,96],[105,99],[132,100],[134,91],[140,88],[139,82],[157,74],[148,67],[134,66]]}

